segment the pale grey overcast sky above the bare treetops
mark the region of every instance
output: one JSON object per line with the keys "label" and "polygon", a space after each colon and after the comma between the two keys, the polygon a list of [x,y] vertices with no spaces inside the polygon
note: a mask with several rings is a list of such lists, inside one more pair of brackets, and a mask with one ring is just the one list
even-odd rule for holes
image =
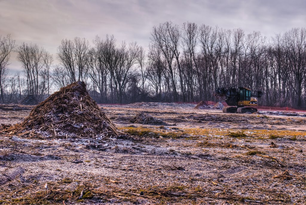
{"label": "pale grey overcast sky above the bare treetops", "polygon": [[[149,44],[154,25],[195,22],[270,37],[292,27],[306,26],[306,1],[283,0],[0,0],[0,35],[17,43],[33,42],[56,57],[63,38],[114,34],[118,42]],[[10,69],[20,69],[16,55]]]}

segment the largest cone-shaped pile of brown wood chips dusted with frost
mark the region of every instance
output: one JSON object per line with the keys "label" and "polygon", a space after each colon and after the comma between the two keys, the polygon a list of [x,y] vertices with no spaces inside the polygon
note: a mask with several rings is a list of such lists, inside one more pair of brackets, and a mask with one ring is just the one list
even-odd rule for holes
{"label": "largest cone-shaped pile of brown wood chips dusted with frost", "polygon": [[50,95],[12,129],[19,136],[110,138],[114,124],[89,96],[84,82],[74,82]]}

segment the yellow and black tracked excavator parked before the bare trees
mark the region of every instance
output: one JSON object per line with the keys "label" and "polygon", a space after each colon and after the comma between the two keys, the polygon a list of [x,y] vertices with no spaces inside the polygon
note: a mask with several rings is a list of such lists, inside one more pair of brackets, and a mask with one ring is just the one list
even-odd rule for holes
{"label": "yellow and black tracked excavator parked before the bare trees", "polygon": [[[238,88],[217,88],[215,90],[215,96],[225,97],[225,102],[228,107],[222,109],[223,112],[230,113],[254,113],[257,109],[257,98],[263,96],[262,91],[257,91],[256,94],[252,93],[252,90],[244,87]],[[224,98],[223,98],[224,99]],[[252,107],[251,107],[252,106]]]}

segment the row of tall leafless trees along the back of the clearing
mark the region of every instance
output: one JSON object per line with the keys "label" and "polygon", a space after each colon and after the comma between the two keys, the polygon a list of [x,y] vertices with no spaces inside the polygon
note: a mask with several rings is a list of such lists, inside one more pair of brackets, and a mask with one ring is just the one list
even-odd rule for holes
{"label": "row of tall leafless trees along the back of the clearing", "polygon": [[[12,52],[22,67],[15,75],[8,72]],[[305,108],[306,30],[267,38],[241,28],[164,22],[152,28],[147,50],[112,35],[91,42],[75,37],[63,39],[56,56],[0,36],[2,102],[43,100],[80,80],[99,103],[217,101],[215,88],[243,86],[263,91],[262,105]]]}

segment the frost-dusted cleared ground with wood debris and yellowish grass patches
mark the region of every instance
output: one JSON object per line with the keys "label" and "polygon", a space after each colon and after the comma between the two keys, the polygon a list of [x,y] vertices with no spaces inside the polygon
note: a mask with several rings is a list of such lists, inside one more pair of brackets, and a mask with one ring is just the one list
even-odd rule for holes
{"label": "frost-dusted cleared ground with wood debris and yellowish grass patches", "polygon": [[[305,113],[228,114],[194,106],[101,105],[129,134],[122,139],[3,132],[0,203],[305,204]],[[1,105],[0,124],[22,122],[31,108]],[[141,111],[163,123],[130,123]]]}

